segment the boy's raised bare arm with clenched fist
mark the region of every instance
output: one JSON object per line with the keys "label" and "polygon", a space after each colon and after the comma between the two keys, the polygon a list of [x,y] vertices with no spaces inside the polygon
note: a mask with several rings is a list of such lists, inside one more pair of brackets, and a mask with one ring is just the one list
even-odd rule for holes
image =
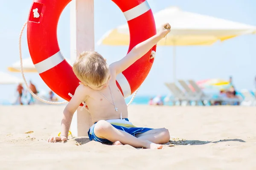
{"label": "boy's raised bare arm with clenched fist", "polygon": [[162,29],[153,37],[136,45],[124,58],[113,62],[110,66],[116,71],[116,75],[124,71],[140,57],[143,57],[154,45],[171,31],[169,23],[163,25]]}

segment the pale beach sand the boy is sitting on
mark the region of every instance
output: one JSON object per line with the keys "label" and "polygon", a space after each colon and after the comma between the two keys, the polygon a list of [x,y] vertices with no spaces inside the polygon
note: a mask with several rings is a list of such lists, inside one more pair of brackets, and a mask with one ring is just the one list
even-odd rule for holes
{"label": "pale beach sand the boy is sitting on", "polygon": [[134,125],[169,129],[171,142],[162,150],[87,138],[47,143],[60,131],[63,109],[0,106],[0,170],[256,170],[256,107],[131,105]]}

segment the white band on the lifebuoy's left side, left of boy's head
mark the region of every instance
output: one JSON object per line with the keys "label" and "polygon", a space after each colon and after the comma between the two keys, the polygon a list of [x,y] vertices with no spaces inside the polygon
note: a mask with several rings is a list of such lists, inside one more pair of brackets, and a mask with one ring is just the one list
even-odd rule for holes
{"label": "white band on the lifebuoy's left side, left of boy's head", "polygon": [[56,54],[52,55],[51,57],[35,64],[35,68],[40,74],[55,67],[56,65],[61,63],[64,59],[65,58],[61,54],[61,51],[58,51]]}

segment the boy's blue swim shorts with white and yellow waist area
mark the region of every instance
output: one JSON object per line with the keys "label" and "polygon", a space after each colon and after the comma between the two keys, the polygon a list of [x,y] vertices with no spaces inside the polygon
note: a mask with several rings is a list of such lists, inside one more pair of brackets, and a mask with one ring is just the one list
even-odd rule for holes
{"label": "boy's blue swim shorts with white and yellow waist area", "polygon": [[[145,133],[148,130],[152,130],[151,128],[146,128],[146,127],[136,127],[131,122],[129,122],[128,118],[111,119],[111,120],[106,120],[106,121],[109,122],[116,129],[125,131],[125,132],[131,134],[132,136],[135,136],[137,133]],[[89,139],[91,141],[93,140],[93,141],[102,142],[105,144],[111,144],[112,142],[109,141],[108,139],[101,139],[94,134],[94,127],[95,127],[96,123],[94,123],[94,125],[92,125],[88,131]]]}

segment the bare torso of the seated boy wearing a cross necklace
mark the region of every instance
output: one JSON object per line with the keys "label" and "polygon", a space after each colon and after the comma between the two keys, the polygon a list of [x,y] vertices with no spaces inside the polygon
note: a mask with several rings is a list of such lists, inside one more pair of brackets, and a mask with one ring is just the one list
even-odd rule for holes
{"label": "bare torso of the seated boy wearing a cross necklace", "polygon": [[[116,86],[116,75],[112,71],[111,76],[112,79],[109,82],[111,91],[109,87],[106,87],[100,91],[95,91],[88,86],[86,86],[85,88],[81,88],[84,89],[84,91],[86,92],[89,91],[89,95],[85,96],[85,102],[92,116],[93,123],[98,122],[99,120],[120,119],[121,113],[122,118],[128,117],[125,99],[122,96],[119,88]],[[111,92],[113,95],[113,99],[111,96]],[[81,91],[80,93],[83,92]],[[103,95],[108,99],[106,99]],[[113,105],[113,103],[115,104],[116,108],[118,108],[117,111],[115,111],[115,106]]]}

